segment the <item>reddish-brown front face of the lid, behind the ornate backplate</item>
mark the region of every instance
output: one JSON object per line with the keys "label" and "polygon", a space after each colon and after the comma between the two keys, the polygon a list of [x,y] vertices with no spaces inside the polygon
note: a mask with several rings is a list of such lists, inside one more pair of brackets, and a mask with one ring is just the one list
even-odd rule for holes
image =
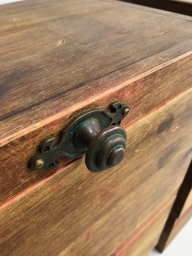
{"label": "reddish-brown front face of the lid, behind the ornate backplate", "polygon": [[[27,167],[28,160],[37,151],[40,142],[51,134],[57,137],[58,132],[68,120],[73,118],[73,115],[77,115],[91,108],[108,106],[113,100],[120,100],[131,106],[129,116],[122,122],[122,126],[126,127],[128,122],[132,123],[133,120],[151,112],[154,101],[156,101],[157,107],[159,103],[162,104],[161,106],[164,106],[164,101],[169,97],[174,96],[174,94],[177,94],[183,88],[190,87],[190,63],[192,63],[192,56],[174,62],[163,70],[157,70],[150,76],[140,78],[126,87],[120,86],[120,88],[116,88],[114,91],[111,90],[110,92],[106,92],[106,94],[103,93],[102,97],[99,95],[90,98],[85,102],[85,104],[88,104],[86,108],[84,105],[81,106],[81,110],[78,110],[80,105],[77,105],[76,109],[71,107],[67,111],[67,116],[64,110],[61,115],[56,114],[54,117],[40,122],[40,127],[32,126],[30,135],[27,133],[28,129],[26,129],[24,130],[23,136],[19,136],[9,144],[2,146],[0,148],[0,165],[2,167],[0,169],[0,203],[5,202],[12,196],[15,196],[22,190],[54,172],[54,170],[38,170],[32,172]],[[187,72],[186,76],[180,76],[180,73],[184,74],[185,72]],[[158,90],[154,87],[152,81],[156,81],[155,84],[158,85]],[[170,84],[182,84],[182,86],[171,88]],[[143,94],[141,94],[141,86],[146,90]],[[134,95],[138,95],[139,98],[136,99]],[[148,104],[145,104],[146,100]],[[59,168],[67,162],[68,160],[66,158],[60,159],[61,164]]]}

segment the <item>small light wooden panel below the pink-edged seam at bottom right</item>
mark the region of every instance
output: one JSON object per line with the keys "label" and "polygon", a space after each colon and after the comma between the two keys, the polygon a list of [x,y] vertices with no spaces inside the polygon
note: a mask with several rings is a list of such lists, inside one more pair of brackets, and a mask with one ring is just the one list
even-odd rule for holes
{"label": "small light wooden panel below the pink-edged seam at bottom right", "polygon": [[164,224],[168,218],[170,213],[172,204],[174,202],[173,198],[162,208],[156,216],[140,230],[140,232],[132,238],[132,240],[128,240],[128,243],[120,250],[116,256],[143,256],[150,253],[150,251],[156,246]]}

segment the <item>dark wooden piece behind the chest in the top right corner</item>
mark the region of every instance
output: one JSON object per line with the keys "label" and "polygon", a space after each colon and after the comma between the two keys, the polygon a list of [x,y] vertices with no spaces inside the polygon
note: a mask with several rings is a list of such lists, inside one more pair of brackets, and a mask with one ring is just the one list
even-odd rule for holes
{"label": "dark wooden piece behind the chest in the top right corner", "polygon": [[122,0],[143,6],[176,12],[184,15],[192,16],[192,1],[191,0]]}

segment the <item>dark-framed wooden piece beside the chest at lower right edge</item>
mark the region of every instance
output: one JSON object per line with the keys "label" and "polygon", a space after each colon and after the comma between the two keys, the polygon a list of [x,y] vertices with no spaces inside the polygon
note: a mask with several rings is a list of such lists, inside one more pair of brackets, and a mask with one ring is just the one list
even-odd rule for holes
{"label": "dark-framed wooden piece beside the chest at lower right edge", "polygon": [[172,206],[170,216],[164,226],[157,244],[162,252],[192,217],[192,162],[186,176],[178,190],[176,200]]}

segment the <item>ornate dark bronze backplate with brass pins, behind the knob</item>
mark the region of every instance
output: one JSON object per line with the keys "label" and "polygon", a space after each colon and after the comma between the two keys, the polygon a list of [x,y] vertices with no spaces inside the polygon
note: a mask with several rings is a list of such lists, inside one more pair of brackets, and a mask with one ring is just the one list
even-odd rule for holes
{"label": "ornate dark bronze backplate with brass pins, behind the knob", "polygon": [[69,159],[82,156],[86,153],[87,147],[79,147],[74,143],[74,134],[80,125],[86,120],[96,119],[100,124],[100,129],[119,125],[122,119],[128,114],[130,108],[120,102],[110,104],[112,112],[107,112],[103,108],[88,110],[78,115],[60,132],[58,141],[54,143],[55,137],[49,136],[40,143],[38,152],[30,159],[28,166],[31,169],[56,168],[59,165],[58,157],[64,156]]}

